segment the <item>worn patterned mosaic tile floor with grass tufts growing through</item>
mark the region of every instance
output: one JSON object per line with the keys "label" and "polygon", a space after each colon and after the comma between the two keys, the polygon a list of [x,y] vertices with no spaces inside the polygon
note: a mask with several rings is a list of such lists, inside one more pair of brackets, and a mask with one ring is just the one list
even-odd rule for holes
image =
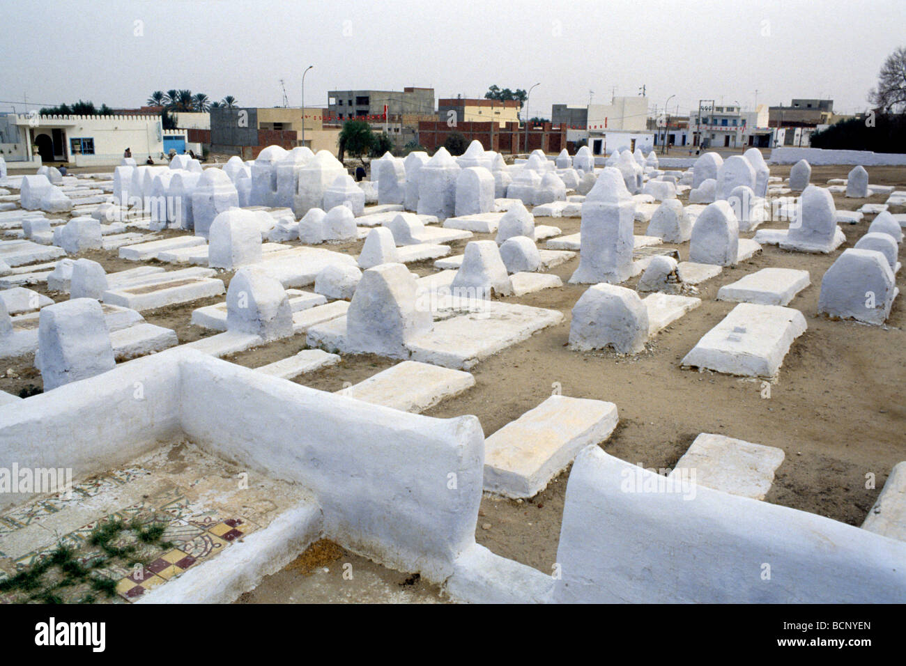
{"label": "worn patterned mosaic tile floor with grass tufts growing through", "polygon": [[[30,571],[44,558],[53,557],[59,545],[65,545],[83,567],[92,567],[98,558],[107,556],[108,561],[93,567],[92,575],[115,582],[116,596],[92,595],[97,601],[135,601],[242,541],[303,498],[292,484],[253,476],[253,482],[243,486],[236,482],[236,475],[220,458],[180,443],[158,449],[140,464],[76,484],[72,493],[35,497],[0,515],[0,582]],[[121,508],[109,510],[120,502]],[[94,511],[98,517],[72,529],[77,524],[73,521]],[[134,546],[135,553],[111,558],[101,546],[92,545],[92,534],[99,526],[120,522],[161,526],[163,534],[158,542],[146,544],[123,530],[121,538]],[[44,578],[53,580],[55,574],[53,570]],[[59,593],[64,603],[77,603],[89,587],[68,584],[55,588],[54,594]],[[27,599],[21,591],[0,592],[0,603]]]}

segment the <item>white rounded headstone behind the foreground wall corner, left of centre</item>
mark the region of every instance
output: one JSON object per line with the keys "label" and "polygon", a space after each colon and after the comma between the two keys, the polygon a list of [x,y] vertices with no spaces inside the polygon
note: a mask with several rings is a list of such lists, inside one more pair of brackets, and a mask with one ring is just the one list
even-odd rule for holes
{"label": "white rounded headstone behind the foreground wall corner, left of centre", "polygon": [[226,290],[226,330],[265,341],[291,336],[293,309],[279,280],[255,266],[236,271]]}

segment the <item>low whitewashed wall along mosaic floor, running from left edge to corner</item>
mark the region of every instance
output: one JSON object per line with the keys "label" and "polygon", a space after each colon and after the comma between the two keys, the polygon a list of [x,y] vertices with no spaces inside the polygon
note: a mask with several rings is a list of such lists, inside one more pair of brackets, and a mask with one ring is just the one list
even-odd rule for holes
{"label": "low whitewashed wall along mosaic floor, running from left edge to corner", "polygon": [[[168,353],[0,407],[0,467],[72,468],[79,481],[176,435],[179,367]],[[0,495],[0,507],[31,498]]]}

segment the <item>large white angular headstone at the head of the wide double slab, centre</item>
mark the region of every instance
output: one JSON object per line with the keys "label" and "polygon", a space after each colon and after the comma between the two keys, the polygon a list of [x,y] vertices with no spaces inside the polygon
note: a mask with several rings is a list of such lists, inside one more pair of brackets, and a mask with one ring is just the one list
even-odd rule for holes
{"label": "large white angular headstone at the head of the wide double slab, centre", "polygon": [[408,358],[413,337],[429,331],[429,308],[417,303],[417,284],[402,264],[381,264],[362,272],[346,312],[346,343],[353,352]]}

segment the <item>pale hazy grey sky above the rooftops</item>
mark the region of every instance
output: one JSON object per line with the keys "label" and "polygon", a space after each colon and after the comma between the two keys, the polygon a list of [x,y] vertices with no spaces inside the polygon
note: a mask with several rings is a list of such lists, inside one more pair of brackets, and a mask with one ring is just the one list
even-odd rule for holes
{"label": "pale hazy grey sky above the rooftops", "polygon": [[[323,106],[328,90],[528,89],[531,115],[647,87],[685,114],[718,103],[834,100],[864,110],[884,58],[906,45],[904,0],[290,2],[0,0],[0,111],[80,97],[135,107],[188,88],[240,105]],[[31,106],[29,108],[32,108]]]}

